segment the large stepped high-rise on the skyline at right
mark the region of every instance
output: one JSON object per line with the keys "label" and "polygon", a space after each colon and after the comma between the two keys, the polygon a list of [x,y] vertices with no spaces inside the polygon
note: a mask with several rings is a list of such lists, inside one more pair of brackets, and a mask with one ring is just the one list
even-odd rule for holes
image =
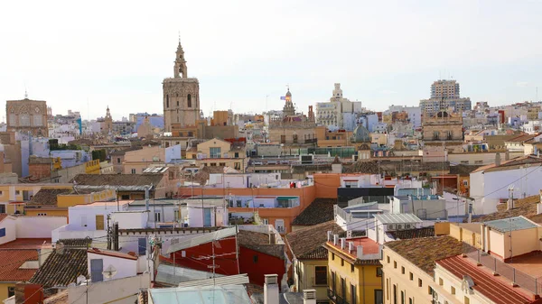
{"label": "large stepped high-rise on the skyline at right", "polygon": [[456,80],[439,79],[431,85],[431,97],[420,100],[422,112],[435,115],[441,110],[462,112],[471,110],[471,98],[462,98],[459,94],[459,83]]}

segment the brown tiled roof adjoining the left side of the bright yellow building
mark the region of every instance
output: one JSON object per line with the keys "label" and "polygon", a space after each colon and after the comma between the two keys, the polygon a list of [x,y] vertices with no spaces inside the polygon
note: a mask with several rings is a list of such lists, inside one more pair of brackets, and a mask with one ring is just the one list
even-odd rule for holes
{"label": "brown tiled roof adjoining the left side of the bright yellow building", "polygon": [[[323,255],[320,252],[315,251],[318,251],[322,247],[322,244],[327,242],[328,231],[332,231],[333,235],[344,232],[341,226],[337,225],[334,220],[331,220],[295,230],[286,235],[286,242],[290,247],[290,251],[297,259],[306,260],[313,259],[315,256],[322,257]],[[325,253],[325,257],[327,257],[327,253]]]}

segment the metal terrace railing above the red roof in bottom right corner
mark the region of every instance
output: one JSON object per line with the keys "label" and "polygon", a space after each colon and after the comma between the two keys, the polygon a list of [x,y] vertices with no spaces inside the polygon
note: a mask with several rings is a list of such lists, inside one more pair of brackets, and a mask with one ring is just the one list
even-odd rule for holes
{"label": "metal terrace railing above the red roof in bottom right corner", "polygon": [[463,254],[473,261],[489,268],[492,272],[498,273],[500,276],[509,279],[525,290],[531,291],[536,295],[542,293],[542,276],[533,277],[525,272],[521,272],[512,265],[504,263],[469,244],[463,244]]}

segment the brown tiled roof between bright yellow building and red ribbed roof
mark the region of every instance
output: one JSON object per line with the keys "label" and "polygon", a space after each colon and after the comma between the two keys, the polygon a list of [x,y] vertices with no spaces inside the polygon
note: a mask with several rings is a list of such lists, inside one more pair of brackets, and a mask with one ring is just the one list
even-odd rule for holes
{"label": "brown tiled roof between bright yellow building and red ribbed roof", "polygon": [[385,246],[430,275],[435,261],[463,253],[463,243],[449,235],[394,241]]}

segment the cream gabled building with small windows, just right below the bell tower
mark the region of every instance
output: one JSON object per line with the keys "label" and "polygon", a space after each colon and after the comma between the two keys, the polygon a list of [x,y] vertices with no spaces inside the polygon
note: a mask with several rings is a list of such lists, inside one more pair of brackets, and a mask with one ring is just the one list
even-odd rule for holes
{"label": "cream gabled building with small windows, just right below the bell tower", "polygon": [[198,143],[197,148],[186,151],[186,158],[196,160],[197,166],[230,167],[245,171],[247,153],[245,143],[229,143],[218,138]]}

